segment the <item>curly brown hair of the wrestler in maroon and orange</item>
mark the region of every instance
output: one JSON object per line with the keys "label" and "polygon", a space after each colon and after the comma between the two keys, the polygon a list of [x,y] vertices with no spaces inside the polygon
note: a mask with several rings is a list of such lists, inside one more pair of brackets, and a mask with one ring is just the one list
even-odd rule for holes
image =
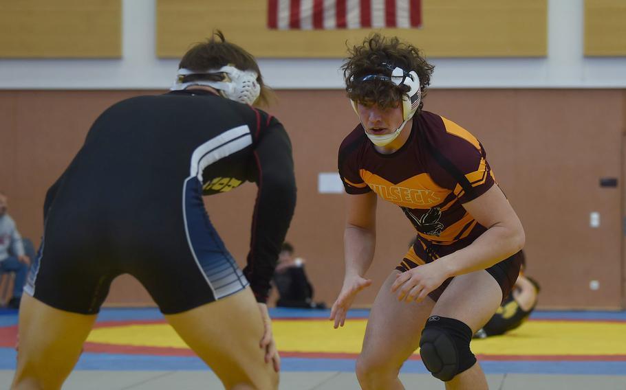
{"label": "curly brown hair of the wrestler in maroon and orange", "polygon": [[388,38],[374,33],[365,38],[361,45],[349,48],[348,54],[341,69],[345,79],[345,91],[350,100],[366,105],[377,104],[382,108],[397,107],[409,87],[380,79],[363,82],[363,78],[368,75],[391,76],[391,65],[407,72],[418,73],[422,102],[417,113],[422,111],[423,99],[435,67],[422,57],[420,49],[400,41],[397,36]]}

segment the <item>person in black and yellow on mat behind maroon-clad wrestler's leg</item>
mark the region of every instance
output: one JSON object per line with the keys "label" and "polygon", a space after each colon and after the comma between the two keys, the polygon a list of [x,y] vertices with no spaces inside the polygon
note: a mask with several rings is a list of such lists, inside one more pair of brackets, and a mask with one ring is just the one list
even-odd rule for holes
{"label": "person in black and yellow on mat behind maroon-clad wrestler's leg", "polygon": [[515,287],[488,323],[476,332],[475,339],[484,339],[487,336],[496,336],[519,328],[519,325],[528,319],[532,310],[535,310],[540,289],[539,284],[535,279],[524,275],[526,261],[524,257],[522,259],[522,268],[515,282]]}

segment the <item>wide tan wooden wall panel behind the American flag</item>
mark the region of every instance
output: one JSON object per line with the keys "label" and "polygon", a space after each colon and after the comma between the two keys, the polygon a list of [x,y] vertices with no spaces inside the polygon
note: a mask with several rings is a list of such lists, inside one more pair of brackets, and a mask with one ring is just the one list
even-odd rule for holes
{"label": "wide tan wooden wall panel behind the American flag", "polygon": [[[259,58],[343,58],[371,30],[268,30],[267,0],[157,0],[157,54],[178,58],[215,28]],[[423,0],[422,28],[382,29],[429,57],[547,54],[547,0]]]}

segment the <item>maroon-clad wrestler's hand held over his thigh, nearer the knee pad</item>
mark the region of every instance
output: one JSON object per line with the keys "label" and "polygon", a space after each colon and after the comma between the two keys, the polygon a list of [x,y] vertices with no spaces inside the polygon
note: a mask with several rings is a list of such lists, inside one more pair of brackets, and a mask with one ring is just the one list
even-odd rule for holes
{"label": "maroon-clad wrestler's hand held over his thigh, nearer the knee pad", "polygon": [[396,275],[391,292],[398,294],[398,301],[421,302],[429,292],[441,286],[449,275],[443,262],[422,264]]}

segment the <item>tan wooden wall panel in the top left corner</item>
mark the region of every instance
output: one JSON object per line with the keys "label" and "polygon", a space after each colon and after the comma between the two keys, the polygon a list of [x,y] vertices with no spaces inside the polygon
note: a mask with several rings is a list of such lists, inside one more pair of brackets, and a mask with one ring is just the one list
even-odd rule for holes
{"label": "tan wooden wall panel in the top left corner", "polygon": [[121,56],[121,0],[0,1],[0,58]]}

